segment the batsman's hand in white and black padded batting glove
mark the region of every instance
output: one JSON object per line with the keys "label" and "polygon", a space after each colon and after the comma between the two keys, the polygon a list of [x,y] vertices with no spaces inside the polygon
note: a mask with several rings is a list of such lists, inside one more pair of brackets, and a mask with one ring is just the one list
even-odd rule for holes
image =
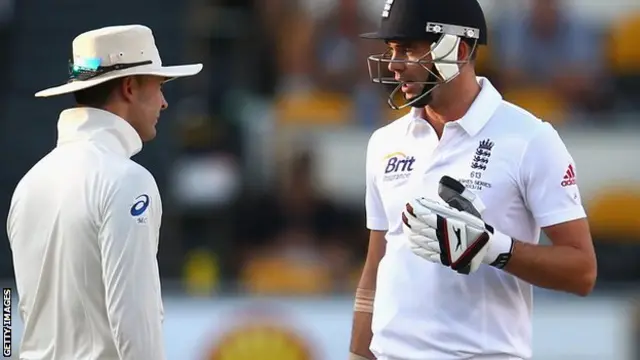
{"label": "batsman's hand in white and black padded batting glove", "polygon": [[414,254],[461,274],[472,273],[483,263],[502,268],[511,255],[510,237],[478,216],[439,201],[409,202],[402,221]]}

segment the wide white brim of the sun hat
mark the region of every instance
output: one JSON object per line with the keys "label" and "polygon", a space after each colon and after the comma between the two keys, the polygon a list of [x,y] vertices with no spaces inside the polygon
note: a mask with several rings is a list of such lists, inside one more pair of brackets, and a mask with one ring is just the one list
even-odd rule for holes
{"label": "wide white brim of the sun hat", "polygon": [[189,65],[177,65],[177,66],[161,66],[158,68],[129,68],[125,70],[113,71],[104,76],[97,76],[93,79],[84,81],[73,81],[67,84],[55,86],[42,91],[38,91],[36,97],[50,97],[56,95],[69,94],[76,91],[88,89],[100,85],[109,80],[118,79],[126,76],[134,75],[151,75],[166,77],[169,79],[175,79],[180,77],[193,76],[198,74],[202,70],[202,64],[189,64]]}

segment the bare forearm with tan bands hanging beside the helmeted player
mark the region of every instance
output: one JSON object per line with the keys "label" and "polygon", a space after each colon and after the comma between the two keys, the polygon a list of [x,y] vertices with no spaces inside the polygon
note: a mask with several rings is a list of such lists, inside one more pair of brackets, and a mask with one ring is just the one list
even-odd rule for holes
{"label": "bare forearm with tan bands hanging beside the helmeted player", "polygon": [[[374,359],[369,350],[371,344],[371,318],[373,314],[373,299],[376,291],[376,278],[378,275],[378,264],[384,256],[386,231],[372,230],[369,234],[369,249],[367,259],[362,269],[362,275],[358,282],[353,313],[353,327],[351,330],[350,351],[353,355],[361,356],[364,359]],[[358,359],[352,356],[353,359]]]}

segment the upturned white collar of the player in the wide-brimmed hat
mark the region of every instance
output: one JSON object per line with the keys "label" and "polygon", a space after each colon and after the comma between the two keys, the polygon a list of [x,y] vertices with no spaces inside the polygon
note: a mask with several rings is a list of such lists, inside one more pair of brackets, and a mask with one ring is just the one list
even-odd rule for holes
{"label": "upturned white collar of the player in the wide-brimmed hat", "polygon": [[96,141],[127,157],[142,150],[140,136],[126,120],[96,108],[79,107],[60,113],[58,146],[79,140]]}

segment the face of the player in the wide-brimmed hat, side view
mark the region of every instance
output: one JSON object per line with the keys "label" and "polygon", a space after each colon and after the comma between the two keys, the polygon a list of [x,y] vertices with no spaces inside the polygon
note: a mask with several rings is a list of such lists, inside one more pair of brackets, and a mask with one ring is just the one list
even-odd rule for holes
{"label": "face of the player in the wide-brimmed hat, side view", "polygon": [[131,84],[132,101],[129,121],[142,141],[149,141],[156,137],[156,124],[160,112],[168,106],[162,94],[162,84],[165,80],[158,76],[140,76]]}

